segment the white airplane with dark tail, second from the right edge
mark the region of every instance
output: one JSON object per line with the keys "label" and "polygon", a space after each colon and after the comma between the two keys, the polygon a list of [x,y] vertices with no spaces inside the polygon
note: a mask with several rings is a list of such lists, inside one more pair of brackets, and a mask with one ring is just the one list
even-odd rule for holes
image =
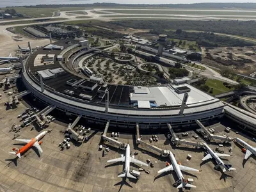
{"label": "white airplane with dark tail, second from the right edge", "polygon": [[218,163],[216,166],[214,166],[214,169],[217,169],[219,167],[222,167],[222,171],[223,172],[226,172],[227,170],[228,171],[231,171],[231,170],[236,170],[236,168],[232,168],[232,165],[231,164],[225,164],[221,159],[220,157],[230,157],[230,155],[228,154],[218,154],[216,152],[214,152],[206,143],[204,143],[204,148],[205,150],[207,150],[209,152],[209,154],[207,154],[207,156],[205,156],[202,161],[205,161],[207,159],[212,159],[214,158],[216,163]]}

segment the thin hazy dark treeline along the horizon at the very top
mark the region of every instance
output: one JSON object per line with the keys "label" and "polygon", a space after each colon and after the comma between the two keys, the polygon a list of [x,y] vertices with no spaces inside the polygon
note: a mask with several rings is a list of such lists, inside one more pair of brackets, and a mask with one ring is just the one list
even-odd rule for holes
{"label": "thin hazy dark treeline along the horizon at the very top", "polygon": [[66,6],[123,6],[123,7],[163,7],[163,8],[242,8],[242,9],[256,9],[256,3],[193,3],[193,4],[118,4],[118,3],[93,3],[93,4],[38,4],[25,6],[28,8],[58,8]]}

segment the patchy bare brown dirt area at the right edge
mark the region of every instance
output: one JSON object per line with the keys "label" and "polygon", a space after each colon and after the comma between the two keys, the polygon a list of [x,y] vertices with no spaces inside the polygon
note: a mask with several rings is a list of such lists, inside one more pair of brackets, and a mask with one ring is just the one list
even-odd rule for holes
{"label": "patchy bare brown dirt area at the right edge", "polygon": [[249,75],[256,70],[256,47],[218,47],[203,49],[202,64]]}

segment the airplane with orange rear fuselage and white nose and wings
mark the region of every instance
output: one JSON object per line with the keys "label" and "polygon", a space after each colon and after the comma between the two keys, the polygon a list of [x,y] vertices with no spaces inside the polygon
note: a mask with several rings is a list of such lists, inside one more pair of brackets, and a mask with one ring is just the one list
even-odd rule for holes
{"label": "airplane with orange rear fuselage and white nose and wings", "polygon": [[20,149],[19,148],[13,148],[12,149],[13,151],[11,151],[9,153],[14,154],[15,156],[20,158],[20,154],[23,154],[24,152],[29,150],[29,148],[31,148],[31,147],[36,147],[38,149],[38,151],[42,153],[43,150],[40,147],[40,145],[42,144],[42,141],[39,141],[39,140],[44,138],[45,134],[47,134],[47,131],[41,132],[40,134],[38,134],[38,136],[36,136],[35,138],[32,138],[31,140],[15,139],[16,141],[22,141],[22,142],[28,143],[28,144],[26,144],[24,147],[22,147]]}

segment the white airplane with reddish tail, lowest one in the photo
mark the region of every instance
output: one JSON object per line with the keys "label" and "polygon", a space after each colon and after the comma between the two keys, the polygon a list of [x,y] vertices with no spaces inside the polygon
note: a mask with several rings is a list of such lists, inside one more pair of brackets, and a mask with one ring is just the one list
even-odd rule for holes
{"label": "white airplane with reddish tail, lowest one in the photo", "polygon": [[157,173],[161,174],[161,173],[168,172],[168,171],[174,171],[176,173],[177,177],[179,178],[179,180],[177,180],[173,185],[180,182],[180,184],[179,184],[179,186],[177,186],[177,188],[185,188],[185,187],[186,188],[196,188],[196,186],[189,184],[188,181],[184,179],[181,171],[182,170],[193,171],[193,172],[200,172],[200,171],[196,170],[194,168],[190,168],[188,166],[183,166],[181,164],[178,164],[175,157],[173,156],[173,153],[170,151],[169,151],[169,157],[170,157],[172,164],[169,166],[166,166],[166,168],[159,170]]}

